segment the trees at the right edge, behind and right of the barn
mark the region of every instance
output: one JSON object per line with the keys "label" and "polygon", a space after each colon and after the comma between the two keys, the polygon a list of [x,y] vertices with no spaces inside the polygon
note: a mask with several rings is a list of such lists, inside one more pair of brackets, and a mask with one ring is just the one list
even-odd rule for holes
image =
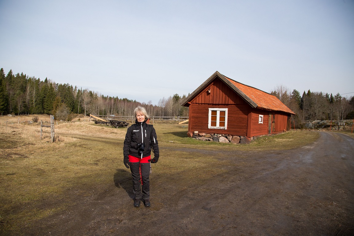
{"label": "trees at the right edge, behind and right of the barn", "polygon": [[307,120],[341,121],[354,119],[354,97],[343,97],[341,94],[324,94],[322,92],[291,91],[284,85],[276,86],[271,94],[278,97],[287,107],[296,113],[293,116],[297,126]]}

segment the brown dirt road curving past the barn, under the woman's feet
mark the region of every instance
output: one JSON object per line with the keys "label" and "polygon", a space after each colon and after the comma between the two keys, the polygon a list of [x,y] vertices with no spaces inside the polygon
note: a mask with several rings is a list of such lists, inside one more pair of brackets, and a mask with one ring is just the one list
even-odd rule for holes
{"label": "brown dirt road curving past the barn, under the woman's feet", "polygon": [[354,139],[321,132],[295,150],[203,152],[219,174],[184,184],[183,173],[155,173],[150,208],[133,207],[130,172],[118,169],[111,185],[68,193],[70,211],[21,234],[354,235]]}

